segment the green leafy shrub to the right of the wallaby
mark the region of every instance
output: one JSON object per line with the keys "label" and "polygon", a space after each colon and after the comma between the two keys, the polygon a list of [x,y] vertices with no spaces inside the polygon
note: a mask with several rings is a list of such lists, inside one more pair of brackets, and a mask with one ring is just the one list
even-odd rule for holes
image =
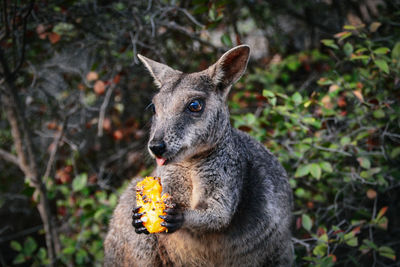
{"label": "green leafy shrub to the right of the wallaby", "polygon": [[400,182],[400,43],[373,34],[345,26],[322,41],[323,53],[276,56],[231,102],[234,126],[264,142],[292,176],[301,265],[396,260],[384,199]]}

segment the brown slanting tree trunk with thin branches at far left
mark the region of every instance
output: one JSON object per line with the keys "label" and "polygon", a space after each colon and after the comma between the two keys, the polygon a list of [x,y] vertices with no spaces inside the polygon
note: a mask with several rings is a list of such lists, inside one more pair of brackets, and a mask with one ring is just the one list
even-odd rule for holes
{"label": "brown slanting tree trunk with thin branches at far left", "polygon": [[[24,18],[25,26],[23,27],[22,32],[22,35],[24,36],[23,39],[25,39],[26,34],[26,21],[28,20],[32,7],[33,0],[31,1],[31,6],[29,7],[28,13]],[[15,21],[13,25],[15,25]],[[13,28],[13,30],[17,31],[18,29]],[[24,45],[21,47],[22,58],[13,72],[11,72],[10,64],[7,61],[7,57],[3,49],[0,48],[0,65],[2,67],[2,75],[4,77],[4,83],[1,84],[3,90],[0,91],[2,93],[1,102],[7,114],[8,122],[11,126],[11,134],[13,137],[15,150],[17,152],[17,160],[13,157],[10,157],[10,155],[8,155],[7,158],[12,159],[14,162],[18,161],[18,164],[21,170],[24,172],[27,181],[29,181],[30,185],[35,188],[34,195],[39,197],[37,209],[45,229],[47,252],[50,259],[50,266],[52,267],[56,264],[57,253],[60,251],[60,242],[57,235],[55,220],[53,219],[53,215],[50,210],[46,186],[44,185],[42,176],[38,171],[39,168],[34,155],[31,131],[28,127],[26,118],[24,117],[25,109],[19,99],[17,88],[14,83],[14,77],[17,74],[16,72],[19,71],[24,61],[25,41],[23,41],[23,43]],[[7,155],[5,153],[3,154]]]}

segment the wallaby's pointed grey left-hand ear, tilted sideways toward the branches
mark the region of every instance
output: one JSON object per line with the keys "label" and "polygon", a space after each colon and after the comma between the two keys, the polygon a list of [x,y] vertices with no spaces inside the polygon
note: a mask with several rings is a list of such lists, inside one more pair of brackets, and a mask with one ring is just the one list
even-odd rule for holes
{"label": "wallaby's pointed grey left-hand ear, tilted sideways toward the branches", "polygon": [[138,55],[140,61],[146,66],[147,70],[150,72],[151,76],[154,78],[154,83],[158,88],[161,88],[163,83],[174,75],[180,73],[165,64],[159,63],[157,61],[151,60],[142,55]]}

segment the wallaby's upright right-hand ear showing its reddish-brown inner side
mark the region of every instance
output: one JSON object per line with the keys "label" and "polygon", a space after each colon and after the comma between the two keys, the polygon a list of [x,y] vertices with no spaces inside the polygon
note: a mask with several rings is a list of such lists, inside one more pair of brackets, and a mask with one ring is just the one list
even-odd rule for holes
{"label": "wallaby's upright right-hand ear showing its reddish-brown inner side", "polygon": [[228,94],[232,84],[237,82],[246,70],[249,61],[250,47],[239,45],[222,55],[222,57],[210,67],[211,78],[219,90]]}

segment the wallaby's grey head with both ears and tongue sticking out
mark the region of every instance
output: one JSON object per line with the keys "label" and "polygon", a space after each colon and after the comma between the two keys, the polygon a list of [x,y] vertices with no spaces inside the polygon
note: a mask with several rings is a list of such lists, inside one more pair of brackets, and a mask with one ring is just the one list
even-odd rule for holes
{"label": "wallaby's grey head with both ears and tongue sticking out", "polygon": [[230,129],[227,95],[246,70],[249,53],[247,45],[237,46],[190,74],[139,55],[159,88],[148,143],[158,165],[184,161],[224,141]]}

